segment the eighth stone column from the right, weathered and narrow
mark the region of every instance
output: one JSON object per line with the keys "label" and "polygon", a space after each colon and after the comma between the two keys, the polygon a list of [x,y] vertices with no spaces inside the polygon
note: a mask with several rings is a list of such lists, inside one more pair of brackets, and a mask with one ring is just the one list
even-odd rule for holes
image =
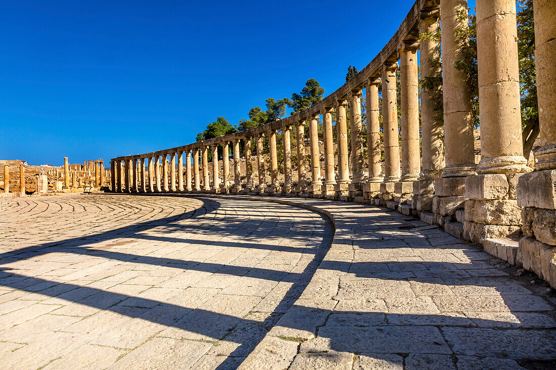
{"label": "eighth stone column from the right, weathered and narrow", "polygon": [[[349,93],[351,126],[352,184],[363,181],[363,124],[361,123],[361,90]],[[352,190],[353,191],[353,190]]]}

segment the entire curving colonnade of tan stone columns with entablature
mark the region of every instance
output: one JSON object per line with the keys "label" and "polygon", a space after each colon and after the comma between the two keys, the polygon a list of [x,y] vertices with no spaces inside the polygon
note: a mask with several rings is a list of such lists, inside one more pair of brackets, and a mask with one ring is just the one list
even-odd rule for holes
{"label": "entire curving colonnade of tan stone columns with entablature", "polygon": [[[546,248],[556,248],[556,229],[551,226],[552,231],[546,236],[546,230],[534,226],[546,224],[547,215],[550,225],[556,224],[556,3],[535,0],[534,9],[542,143],[535,152],[535,172],[529,173],[533,169],[523,156],[515,0],[476,1],[479,161],[474,152],[471,90],[466,73],[456,67],[465,57],[461,52],[461,43],[465,41],[460,35],[461,29],[468,25],[460,14],[467,12],[466,1],[440,0],[438,6],[435,1],[425,0],[414,4],[399,31],[367,67],[322,101],[296,115],[255,129],[113,159],[112,171],[116,176],[112,188],[130,193],[300,195],[386,205],[404,214],[418,215],[456,236],[479,241],[485,244],[485,249],[489,240],[518,235],[527,221],[533,225],[523,225],[528,238],[523,243],[528,248],[533,241],[548,245]],[[438,29],[440,43],[429,37]],[[400,86],[396,86],[396,74]],[[398,117],[398,89],[401,117]],[[363,91],[366,132],[361,119]],[[319,121],[324,150],[319,147]],[[292,175],[292,130],[297,139],[296,179]],[[276,135],[280,132],[284,142],[284,182],[279,181],[276,147]],[[264,140],[269,146],[269,168],[262,153]],[[251,152],[253,142],[256,156]],[[240,165],[240,143],[244,146],[245,170]],[[233,179],[229,169],[230,145]],[[217,155],[219,146],[224,149],[222,161]],[[208,162],[209,147],[212,166]],[[177,181],[175,156],[179,159]],[[148,186],[145,181],[136,181],[137,169],[141,179],[145,176],[145,159]],[[136,167],[137,160],[141,161],[139,167]],[[270,173],[269,182],[267,173]],[[542,236],[537,238],[538,235]],[[512,248],[504,249],[508,251],[505,259],[509,259],[510,250],[515,251]]]}

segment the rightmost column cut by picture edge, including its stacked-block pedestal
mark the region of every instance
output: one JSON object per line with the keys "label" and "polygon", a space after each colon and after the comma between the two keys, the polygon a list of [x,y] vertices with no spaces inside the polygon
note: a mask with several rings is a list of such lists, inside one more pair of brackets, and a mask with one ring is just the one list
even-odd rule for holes
{"label": "rightmost column cut by picture edge, including its stacked-block pedestal", "polygon": [[[556,288],[556,3],[534,0],[535,67],[540,147],[537,171],[519,177],[517,201],[523,206],[522,263]],[[485,248],[486,249],[486,248]]]}

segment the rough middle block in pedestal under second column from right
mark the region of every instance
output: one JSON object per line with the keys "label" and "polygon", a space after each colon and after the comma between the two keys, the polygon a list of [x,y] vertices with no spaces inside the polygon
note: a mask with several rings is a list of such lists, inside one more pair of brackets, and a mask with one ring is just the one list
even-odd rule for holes
{"label": "rough middle block in pedestal under second column from right", "polygon": [[515,200],[465,202],[465,219],[489,225],[521,225],[521,207]]}

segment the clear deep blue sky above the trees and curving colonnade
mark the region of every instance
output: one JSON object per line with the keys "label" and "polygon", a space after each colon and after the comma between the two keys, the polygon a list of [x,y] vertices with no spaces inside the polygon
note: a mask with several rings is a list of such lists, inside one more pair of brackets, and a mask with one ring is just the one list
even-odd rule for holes
{"label": "clear deep blue sky above the trees and curving colonnade", "polygon": [[[195,141],[366,66],[413,0],[0,5],[0,159],[105,161]],[[386,15],[388,17],[386,17]]]}

